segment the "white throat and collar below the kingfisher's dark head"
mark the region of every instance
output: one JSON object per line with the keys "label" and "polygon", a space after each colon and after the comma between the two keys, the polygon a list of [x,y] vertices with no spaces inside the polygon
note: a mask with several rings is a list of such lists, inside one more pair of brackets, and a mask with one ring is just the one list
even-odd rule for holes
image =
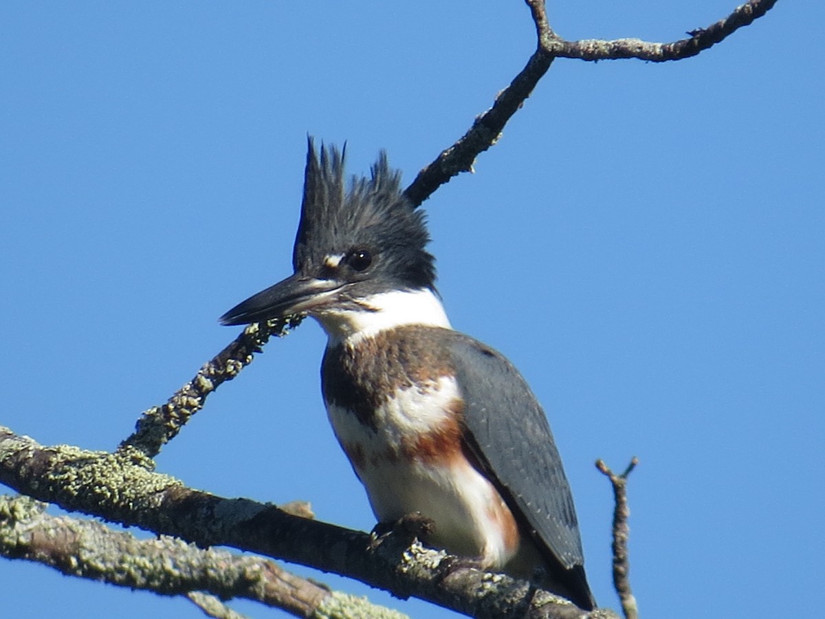
{"label": "white throat and collar below the kingfisher's dark head", "polygon": [[356,344],[386,329],[405,324],[452,328],[444,305],[433,291],[390,291],[359,301],[363,309],[326,309],[314,314],[327,332],[329,346]]}

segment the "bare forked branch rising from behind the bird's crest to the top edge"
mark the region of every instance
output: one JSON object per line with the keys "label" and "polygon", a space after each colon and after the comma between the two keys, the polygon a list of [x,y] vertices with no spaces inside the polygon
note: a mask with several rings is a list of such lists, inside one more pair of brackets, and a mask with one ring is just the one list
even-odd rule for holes
{"label": "bare forked branch rising from behind the bird's crest to the top edge", "polygon": [[535,53],[510,85],[499,92],[493,106],[477,116],[473,125],[455,144],[441,151],[432,163],[418,172],[415,180],[404,191],[413,205],[422,204],[438,187],[449,182],[459,172],[473,169],[475,158],[501,137],[504,126],[524,105],[527,97],[530,97],[554,59],[596,61],[634,58],[664,62],[690,58],[765,15],[776,0],[750,0],[711,26],[691,31],[690,38],[672,43],[651,43],[640,39],[563,40],[550,27],[544,0],[526,0],[526,3],[535,25]]}

